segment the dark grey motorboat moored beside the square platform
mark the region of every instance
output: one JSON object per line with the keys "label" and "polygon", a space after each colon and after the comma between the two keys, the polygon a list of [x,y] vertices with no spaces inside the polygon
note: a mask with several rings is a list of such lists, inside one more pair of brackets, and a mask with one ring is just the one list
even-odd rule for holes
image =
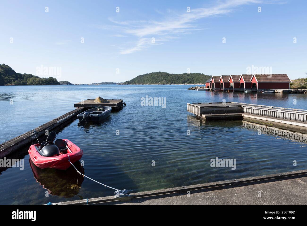
{"label": "dark grey motorboat moored beside the square platform", "polygon": [[111,107],[91,108],[77,115],[79,121],[94,121],[98,122],[107,118],[111,113]]}

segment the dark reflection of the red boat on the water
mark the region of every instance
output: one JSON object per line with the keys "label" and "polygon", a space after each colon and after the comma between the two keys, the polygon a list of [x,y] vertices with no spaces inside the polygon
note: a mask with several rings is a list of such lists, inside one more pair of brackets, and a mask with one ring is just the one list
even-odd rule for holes
{"label": "dark reflection of the red boat on the water", "polygon": [[[84,177],[76,172],[76,169],[69,167],[67,170],[57,169],[40,169],[29,159],[36,181],[47,189],[48,193],[56,196],[71,198],[77,195],[80,191]],[[74,163],[74,166],[84,174],[84,168],[80,161]]]}

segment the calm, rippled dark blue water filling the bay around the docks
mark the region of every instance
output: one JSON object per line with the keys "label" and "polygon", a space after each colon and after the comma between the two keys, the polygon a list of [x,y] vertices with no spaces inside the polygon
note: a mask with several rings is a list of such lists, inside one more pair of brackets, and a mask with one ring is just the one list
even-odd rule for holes
{"label": "calm, rippled dark blue water filling the bay around the docks", "polygon": [[[186,110],[187,102],[223,99],[307,109],[306,95],[214,93],[187,90],[189,86],[0,86],[0,143],[71,111],[81,99],[101,96],[123,99],[127,106],[100,124],[72,127],[78,122],[73,121],[57,138],[67,138],[83,149],[84,167],[80,163],[76,166],[111,187],[139,192],[307,168],[305,141],[279,136],[274,130],[258,136],[261,125],[206,122]],[[146,95],[166,97],[166,108],[141,106]],[[236,169],[211,168],[210,159],[215,157],[235,158]],[[78,177],[72,167],[67,171],[41,170],[32,165],[28,154],[24,160],[24,170],[0,168],[0,204],[45,204],[114,194]],[[49,197],[46,192],[51,192]]]}

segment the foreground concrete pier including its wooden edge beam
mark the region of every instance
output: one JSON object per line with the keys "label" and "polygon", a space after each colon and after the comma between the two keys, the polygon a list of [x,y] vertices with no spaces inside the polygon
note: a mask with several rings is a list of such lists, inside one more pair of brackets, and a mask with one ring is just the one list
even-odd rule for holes
{"label": "foreground concrete pier including its wooden edge beam", "polygon": [[[260,194],[260,196],[259,196]],[[53,203],[85,204],[307,204],[307,170]]]}

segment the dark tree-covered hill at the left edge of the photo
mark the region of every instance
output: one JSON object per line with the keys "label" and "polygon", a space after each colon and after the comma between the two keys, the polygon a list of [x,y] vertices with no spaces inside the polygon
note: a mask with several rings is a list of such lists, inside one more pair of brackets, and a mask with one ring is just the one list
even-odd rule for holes
{"label": "dark tree-covered hill at the left edge of the photo", "polygon": [[60,85],[56,78],[41,78],[33,74],[16,73],[10,66],[0,64],[0,85]]}

